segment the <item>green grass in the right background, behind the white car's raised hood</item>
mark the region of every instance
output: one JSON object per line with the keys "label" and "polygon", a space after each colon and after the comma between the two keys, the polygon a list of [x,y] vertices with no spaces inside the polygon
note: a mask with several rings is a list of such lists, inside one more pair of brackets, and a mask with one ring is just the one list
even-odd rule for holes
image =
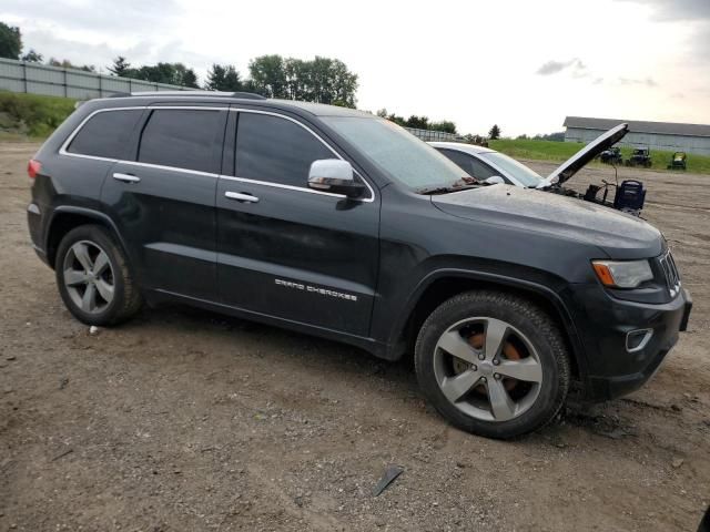
{"label": "green grass in the right background, behind the white car's raised hood", "polygon": [[[503,152],[506,155],[510,155],[514,158],[528,158],[532,161],[551,161],[564,162],[571,157],[575,153],[584,147],[582,143],[578,142],[554,142],[554,141],[532,141],[532,140],[511,140],[500,139],[497,141],[489,141],[488,145],[498,152]],[[625,160],[629,158],[632,149],[622,147],[621,154]],[[651,170],[668,171],[667,166],[670,163],[673,152],[665,152],[661,150],[651,149],[651,160],[653,165]],[[688,153],[688,172],[693,174],[710,174],[710,157],[706,155],[696,155],[694,153]],[[601,165],[600,162],[592,163],[595,165]],[[678,172],[678,173],[682,173]]]}

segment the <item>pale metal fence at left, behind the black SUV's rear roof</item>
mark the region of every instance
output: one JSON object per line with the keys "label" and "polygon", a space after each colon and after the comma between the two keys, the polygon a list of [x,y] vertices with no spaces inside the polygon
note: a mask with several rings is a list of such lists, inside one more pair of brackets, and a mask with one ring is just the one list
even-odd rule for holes
{"label": "pale metal fence at left, behind the black SUV's rear roof", "polygon": [[0,90],[89,100],[120,92],[191,89],[0,58]]}

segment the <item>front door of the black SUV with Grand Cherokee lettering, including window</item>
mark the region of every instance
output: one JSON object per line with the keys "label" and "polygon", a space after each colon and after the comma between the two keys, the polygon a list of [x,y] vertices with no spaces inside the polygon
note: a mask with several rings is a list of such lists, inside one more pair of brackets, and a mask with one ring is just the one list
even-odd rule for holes
{"label": "front door of the black SUV with Grand Cherokee lettering, including window", "polygon": [[308,188],[311,163],[341,156],[302,122],[248,111],[234,122],[227,145],[235,170],[225,168],[216,195],[222,301],[366,336],[377,280],[378,196],[369,185],[357,201]]}

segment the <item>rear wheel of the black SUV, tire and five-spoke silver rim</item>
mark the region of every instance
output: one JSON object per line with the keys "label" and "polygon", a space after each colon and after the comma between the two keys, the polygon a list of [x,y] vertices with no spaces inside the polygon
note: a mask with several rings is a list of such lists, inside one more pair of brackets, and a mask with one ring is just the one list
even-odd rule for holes
{"label": "rear wheel of the black SUV, tire and five-spoke silver rim", "polygon": [[123,249],[101,226],[82,225],[67,233],[54,272],[64,305],[83,324],[115,325],[143,304]]}

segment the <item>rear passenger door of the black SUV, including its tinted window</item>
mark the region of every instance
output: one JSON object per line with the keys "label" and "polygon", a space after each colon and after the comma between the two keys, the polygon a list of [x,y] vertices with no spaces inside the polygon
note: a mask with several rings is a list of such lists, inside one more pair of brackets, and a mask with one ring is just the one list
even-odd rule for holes
{"label": "rear passenger door of the black SUV, including its tinted window", "polygon": [[214,195],[226,110],[146,110],[134,156],[118,161],[102,201],[129,242],[142,285],[214,299]]}

